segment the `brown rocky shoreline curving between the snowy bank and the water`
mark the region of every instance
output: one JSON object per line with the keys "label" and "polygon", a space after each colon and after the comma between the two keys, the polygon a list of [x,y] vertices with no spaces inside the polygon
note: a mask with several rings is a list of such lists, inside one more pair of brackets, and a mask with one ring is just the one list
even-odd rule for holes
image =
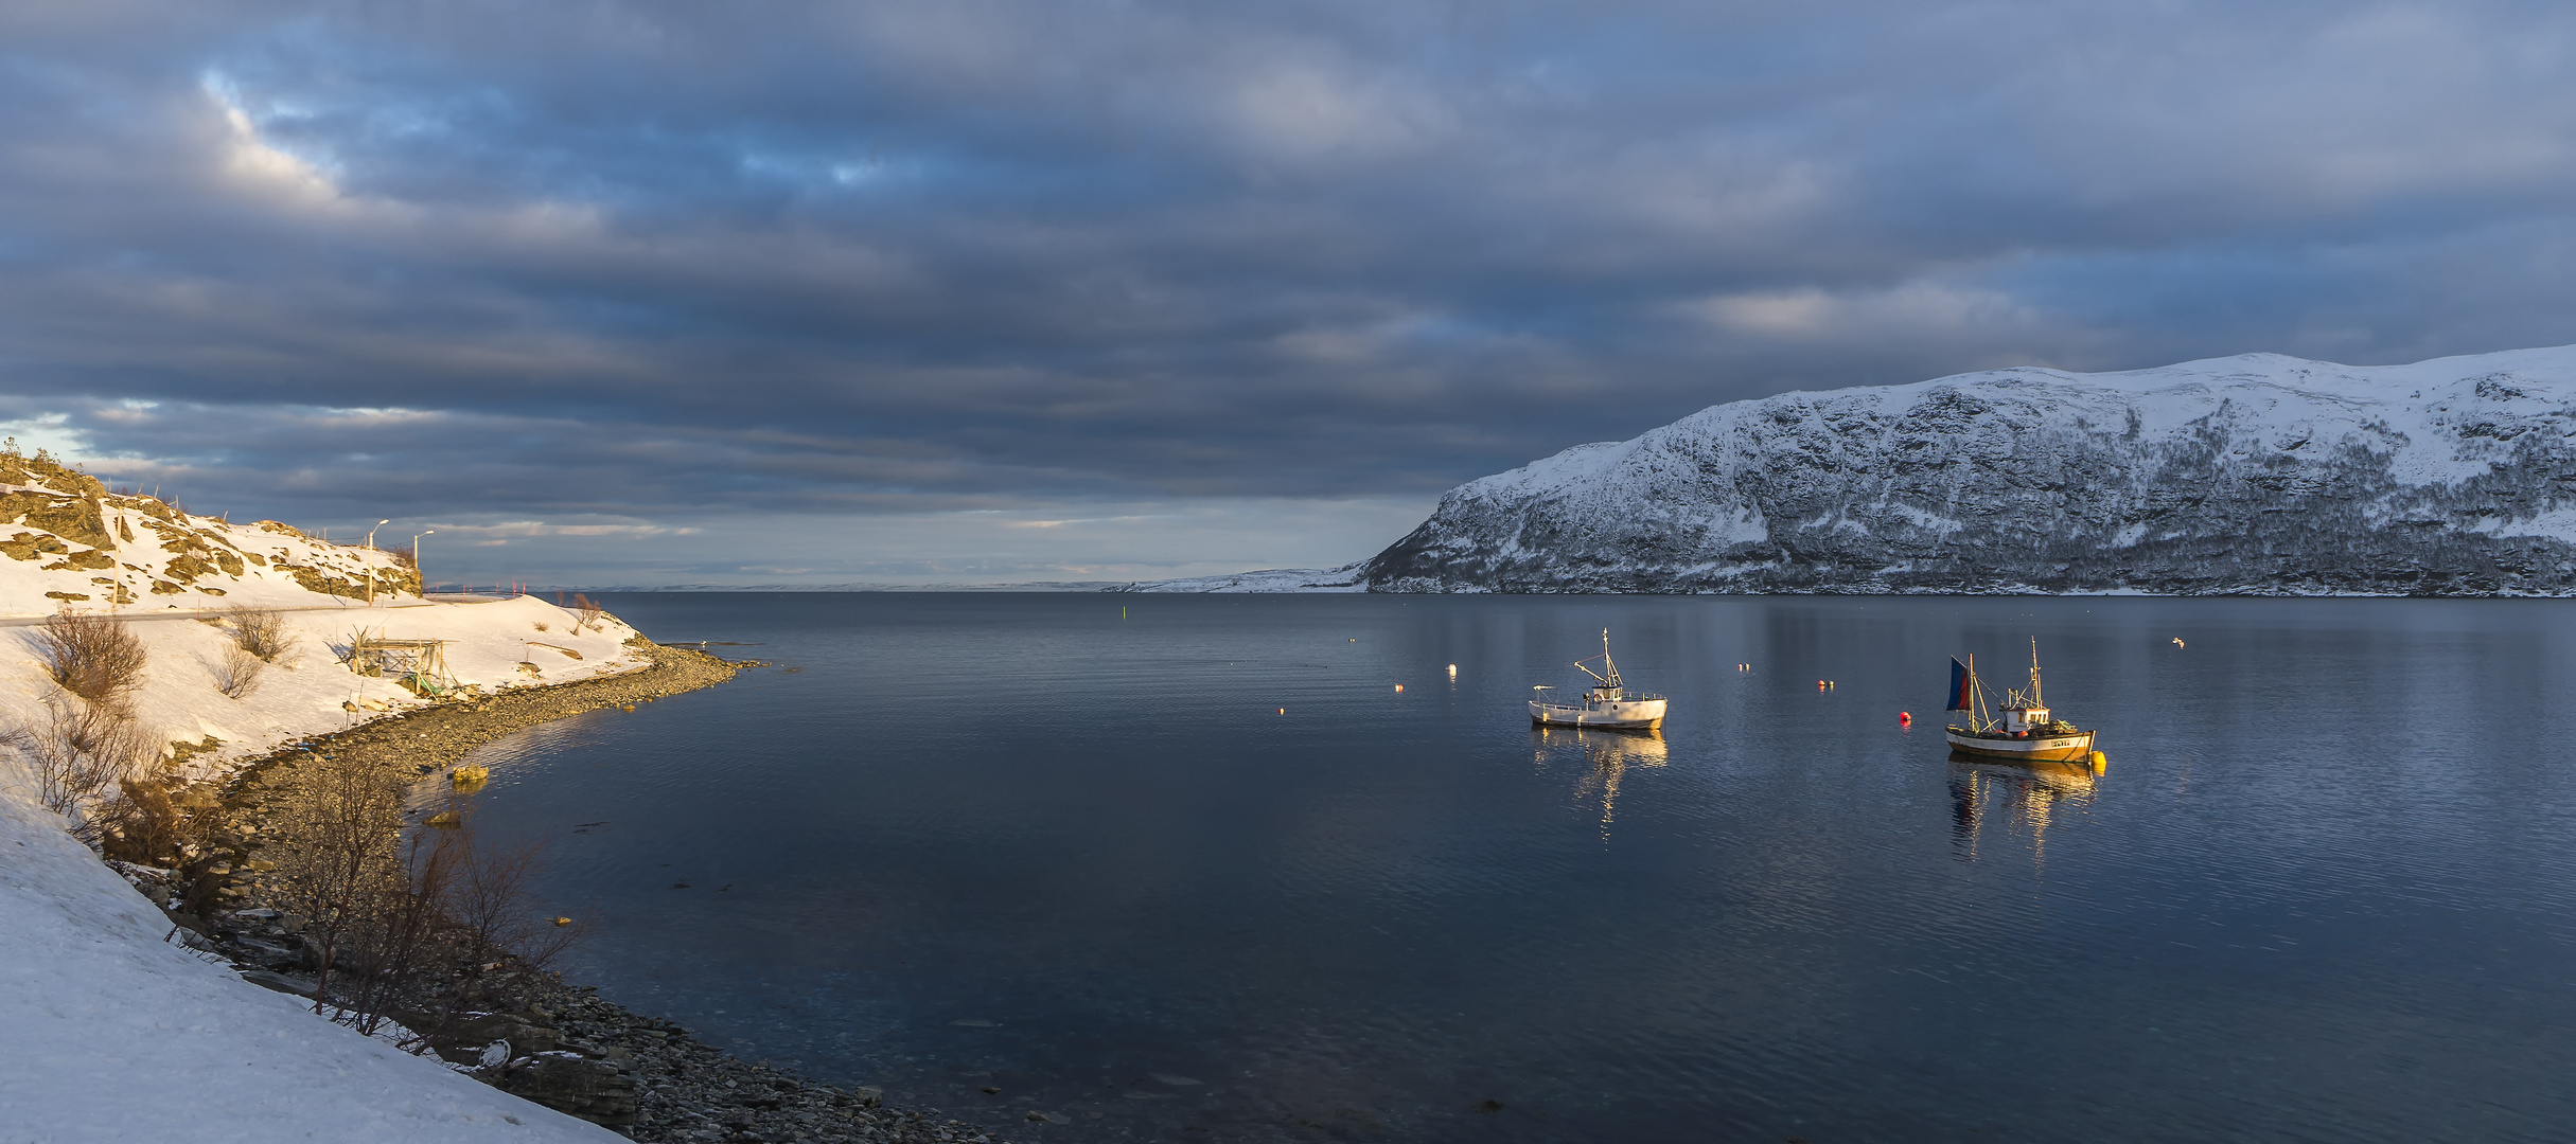
{"label": "brown rocky shoreline curving between the snowy bank and the water", "polygon": [[[273,902],[278,889],[260,858],[273,835],[270,809],[307,768],[371,765],[435,776],[505,734],[600,709],[634,709],[734,678],[744,665],[706,652],[652,644],[634,649],[652,667],[549,688],[513,688],[376,719],[255,760],[211,794],[219,817],[209,843],[178,868],[111,863],[170,912],[173,938],[232,961],[255,984],[312,997],[314,951],[299,920]],[[765,1062],[742,1062],[698,1044],[670,1020],[649,1018],[549,971],[497,977],[489,1013],[451,1028],[440,1056],[505,1092],[603,1123],[639,1141],[992,1141],[981,1129],[935,1113],[884,1105],[873,1087],[806,1082]]]}

